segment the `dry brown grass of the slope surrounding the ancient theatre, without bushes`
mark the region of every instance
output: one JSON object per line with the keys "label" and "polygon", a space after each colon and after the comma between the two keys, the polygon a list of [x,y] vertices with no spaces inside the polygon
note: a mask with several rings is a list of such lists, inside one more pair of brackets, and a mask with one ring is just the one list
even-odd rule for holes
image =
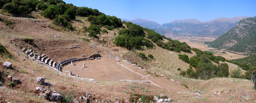
{"label": "dry brown grass of the slope surrounding the ancient theatre, without bushes", "polygon": [[[11,60],[8,58],[0,57],[0,66],[2,67],[2,63],[4,61],[10,61],[13,63],[13,67],[17,69],[19,72],[1,68],[1,72],[3,71],[10,71],[10,75],[13,75],[15,78],[19,78],[23,84],[17,85],[15,88],[11,89],[8,87],[7,84],[5,86],[8,88],[6,90],[0,90],[0,101],[8,102],[8,101],[16,101],[16,102],[47,102],[36,96],[39,95],[38,92],[35,91],[35,87],[38,85],[36,83],[36,77],[45,77],[47,82],[50,82],[52,85],[51,89],[56,90],[59,93],[62,93],[64,96],[66,94],[73,94],[75,98],[79,96],[83,96],[86,93],[91,93],[91,95],[100,95],[102,97],[101,100],[115,100],[118,99],[120,101],[126,101],[130,97],[130,95],[125,94],[123,90],[128,91],[129,93],[138,93],[138,94],[147,94],[147,95],[160,95],[164,94],[170,98],[173,98],[174,101],[178,101],[180,99],[183,102],[205,102],[204,98],[194,98],[194,95],[191,95],[190,90],[203,90],[206,95],[206,99],[210,102],[217,102],[220,98],[222,101],[233,101],[227,98],[228,95],[219,95],[218,97],[211,97],[211,94],[214,91],[207,88],[209,84],[211,84],[211,80],[194,80],[188,79],[185,77],[177,76],[179,72],[177,68],[181,68],[182,70],[186,70],[189,68],[189,65],[185,62],[178,59],[178,53],[171,52],[168,50],[164,50],[162,48],[156,47],[156,49],[145,50],[145,51],[128,51],[124,48],[114,47],[113,39],[117,35],[113,35],[114,32],[118,32],[117,29],[113,31],[109,31],[109,34],[100,35],[100,38],[104,38],[107,40],[107,44],[104,46],[96,45],[98,42],[96,39],[91,40],[91,43],[83,42],[79,40],[79,37],[87,37],[84,35],[86,33],[78,32],[81,30],[83,26],[89,26],[89,22],[86,21],[86,18],[77,17],[76,21],[73,21],[73,26],[76,27],[76,30],[73,32],[62,30],[61,27],[57,27],[51,24],[51,20],[45,19],[40,16],[39,13],[33,12],[32,15],[37,19],[28,19],[28,18],[13,18],[8,16],[0,16],[2,19],[8,19],[15,24],[13,24],[14,29],[10,29],[9,27],[5,26],[3,22],[0,22],[0,43],[6,47],[6,49],[15,56],[15,60]],[[34,20],[45,21],[45,23],[36,23]],[[50,25],[52,28],[47,27]],[[41,27],[46,26],[47,28]],[[56,30],[60,31],[56,31]],[[51,36],[58,36],[63,37],[63,39],[55,39],[50,38],[47,35]],[[35,47],[28,45],[27,43],[22,42],[18,38],[24,39],[25,37],[34,39],[34,43],[39,47],[36,49]],[[73,41],[75,40],[75,41]],[[57,43],[56,43],[57,42]],[[63,49],[65,47],[70,47],[72,45],[82,45],[83,48],[75,48],[75,49]],[[93,48],[89,47],[89,45]],[[154,80],[158,80],[162,85],[170,85],[175,90],[165,90],[163,88],[155,87],[150,84],[141,84],[144,88],[147,88],[151,92],[145,93],[139,90],[139,84],[133,84],[130,82],[101,82],[101,83],[94,83],[88,82],[86,80],[79,80],[76,78],[71,78],[69,76],[61,75],[52,69],[47,68],[44,65],[39,63],[34,63],[33,61],[27,60],[25,58],[24,53],[21,52],[19,47],[29,47],[35,51],[45,53],[50,58],[55,61],[65,60],[67,58],[74,58],[80,57],[81,55],[91,55],[92,53],[96,53],[96,51],[107,52],[108,55],[124,55],[126,60],[130,60],[133,62],[138,62],[139,65],[143,66],[144,68],[149,69],[151,72],[156,71],[157,74],[164,74],[170,79],[175,79],[178,82],[183,82],[184,84],[188,85],[188,89],[184,89],[185,94],[178,94],[174,92],[178,89],[181,89],[181,85],[177,84],[176,82],[172,83],[165,83],[165,80],[162,77],[158,79],[158,77],[152,77]],[[154,61],[142,61],[135,52],[144,52],[147,54],[152,54],[156,60]],[[21,54],[21,56],[16,55],[16,53]],[[68,55],[66,55],[68,54]],[[189,57],[193,56],[193,54],[188,53],[181,53],[187,54]],[[23,59],[26,59],[23,61]],[[23,71],[23,72],[21,72]],[[217,78],[219,79],[219,78]],[[216,79],[216,80],[217,80]],[[224,78],[227,79],[227,78]],[[5,80],[6,77],[5,77]],[[235,81],[235,80],[234,80]],[[75,83],[75,86],[70,85],[70,83]],[[228,84],[218,84],[212,86],[212,88],[216,88],[215,91],[221,91],[224,89],[230,89]],[[237,90],[248,90],[248,92],[252,95],[251,100],[255,100],[255,90],[252,90],[253,84],[251,82],[243,82],[238,83],[234,82],[232,86],[238,85],[239,88]],[[133,86],[133,89],[130,89],[129,86]],[[220,88],[218,86],[224,86]],[[167,86],[168,87],[168,86]],[[235,86],[236,87],[236,86]],[[13,90],[16,90],[13,91]],[[160,93],[159,90],[164,90],[164,93]],[[34,95],[35,94],[35,95]],[[237,95],[242,95],[242,92],[238,92]],[[10,97],[11,95],[11,97]],[[64,97],[63,96],[63,97]],[[238,97],[238,96],[237,96]],[[25,98],[25,99],[23,99]],[[217,99],[216,99],[217,98]],[[202,100],[203,101],[202,101]],[[238,100],[234,100],[233,102],[239,102]]]}

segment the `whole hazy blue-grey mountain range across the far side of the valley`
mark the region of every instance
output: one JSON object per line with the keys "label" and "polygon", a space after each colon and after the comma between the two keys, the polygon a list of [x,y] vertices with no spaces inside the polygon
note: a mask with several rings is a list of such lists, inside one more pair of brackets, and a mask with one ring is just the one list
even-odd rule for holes
{"label": "whole hazy blue-grey mountain range across the far side of the valley", "polygon": [[132,23],[147,27],[149,29],[158,30],[157,33],[165,36],[186,35],[186,36],[220,36],[232,29],[241,19],[249,18],[249,16],[236,16],[234,18],[217,18],[211,21],[199,21],[198,19],[175,19],[170,23],[159,24],[147,19],[133,19],[122,21],[130,21]]}

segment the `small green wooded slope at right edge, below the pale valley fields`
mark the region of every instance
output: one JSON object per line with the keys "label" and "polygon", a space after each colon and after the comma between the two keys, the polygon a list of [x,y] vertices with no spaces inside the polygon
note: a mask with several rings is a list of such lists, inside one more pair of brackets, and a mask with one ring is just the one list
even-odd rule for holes
{"label": "small green wooded slope at right edge, below the pale valley fields", "polygon": [[248,56],[248,57],[237,59],[237,60],[231,60],[231,61],[256,66],[256,55]]}

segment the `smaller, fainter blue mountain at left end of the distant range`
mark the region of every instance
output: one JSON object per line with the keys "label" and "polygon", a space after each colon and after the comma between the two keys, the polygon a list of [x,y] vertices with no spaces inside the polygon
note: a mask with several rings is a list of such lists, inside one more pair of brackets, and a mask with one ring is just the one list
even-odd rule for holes
{"label": "smaller, fainter blue mountain at left end of the distant range", "polygon": [[161,27],[160,24],[154,22],[154,21],[149,21],[147,19],[141,19],[141,18],[137,18],[137,19],[133,19],[133,20],[127,20],[127,19],[122,19],[122,21],[130,21],[131,23],[143,26],[143,27],[147,27],[147,28],[158,28]]}

